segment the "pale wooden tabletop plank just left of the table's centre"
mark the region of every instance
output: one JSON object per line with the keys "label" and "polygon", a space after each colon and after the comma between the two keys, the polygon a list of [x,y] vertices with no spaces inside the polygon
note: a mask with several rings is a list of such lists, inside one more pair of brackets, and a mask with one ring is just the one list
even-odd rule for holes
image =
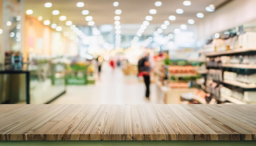
{"label": "pale wooden tabletop plank just left of the table's centre", "polygon": [[102,140],[125,140],[125,106],[113,105],[104,131]]}

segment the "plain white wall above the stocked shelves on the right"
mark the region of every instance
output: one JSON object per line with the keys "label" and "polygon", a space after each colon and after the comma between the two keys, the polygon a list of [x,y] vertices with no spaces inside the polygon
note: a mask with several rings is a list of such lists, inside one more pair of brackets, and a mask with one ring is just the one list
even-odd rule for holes
{"label": "plain white wall above the stocked shelves on the right", "polygon": [[198,25],[198,40],[256,20],[256,0],[233,0],[204,19]]}

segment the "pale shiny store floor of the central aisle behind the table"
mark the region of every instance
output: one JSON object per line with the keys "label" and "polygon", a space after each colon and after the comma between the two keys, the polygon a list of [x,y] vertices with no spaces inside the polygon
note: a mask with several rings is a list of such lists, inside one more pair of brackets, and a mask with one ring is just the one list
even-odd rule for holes
{"label": "pale shiny store floor of the central aisle behind the table", "polygon": [[95,84],[67,85],[66,93],[50,104],[157,104],[156,85],[150,84],[150,100],[146,87],[136,75],[124,75],[121,68],[112,70],[103,63],[101,77]]}

